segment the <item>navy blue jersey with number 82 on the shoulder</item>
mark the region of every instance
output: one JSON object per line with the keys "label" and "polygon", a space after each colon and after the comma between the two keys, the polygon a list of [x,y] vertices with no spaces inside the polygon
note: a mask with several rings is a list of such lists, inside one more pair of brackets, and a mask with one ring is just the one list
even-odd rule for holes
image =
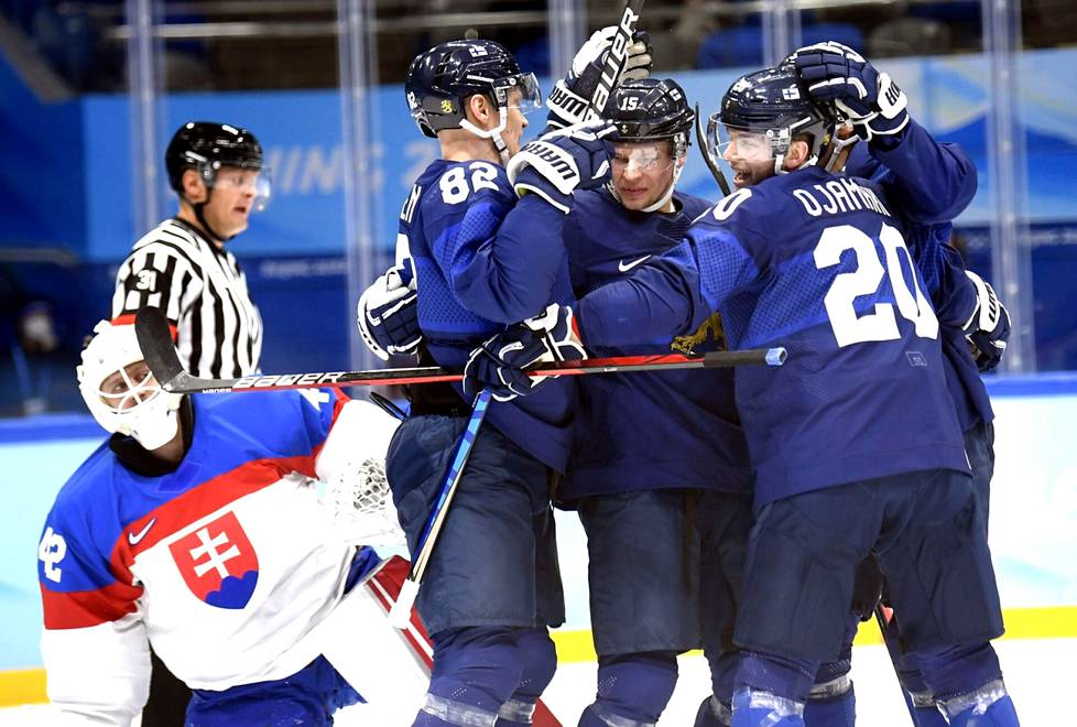
{"label": "navy blue jersey with number 82 on the shoulder", "polygon": [[[565,215],[537,195],[519,203],[504,167],[486,161],[432,163],[400,215],[398,246],[415,265],[418,324],[438,365],[463,370],[472,349],[553,302],[572,303]],[[460,384],[454,384],[461,393]],[[546,465],[564,470],[576,383],[548,381],[533,395],[492,402],[487,422]]]}

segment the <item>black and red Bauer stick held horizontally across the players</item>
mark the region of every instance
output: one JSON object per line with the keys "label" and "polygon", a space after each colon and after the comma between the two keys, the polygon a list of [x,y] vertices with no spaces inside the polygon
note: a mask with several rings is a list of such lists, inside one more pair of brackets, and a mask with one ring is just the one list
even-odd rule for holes
{"label": "black and red Bauer stick held horizontally across the players", "polygon": [[[134,319],[139,347],[153,377],[161,388],[171,393],[228,393],[243,391],[274,391],[280,389],[311,389],[327,387],[384,386],[391,383],[433,383],[463,381],[464,375],[437,366],[409,369],[371,369],[368,371],[330,371],[312,373],[279,373],[248,376],[238,379],[200,379],[192,376],[180,361],[172,343],[168,321],[160,308],[141,308]],[[784,348],[754,348],[741,351],[715,351],[700,357],[679,354],[654,356],[617,356],[559,361],[527,371],[531,377],[583,376],[588,373],[623,373],[661,369],[724,368],[742,365],[781,366],[785,362]]]}

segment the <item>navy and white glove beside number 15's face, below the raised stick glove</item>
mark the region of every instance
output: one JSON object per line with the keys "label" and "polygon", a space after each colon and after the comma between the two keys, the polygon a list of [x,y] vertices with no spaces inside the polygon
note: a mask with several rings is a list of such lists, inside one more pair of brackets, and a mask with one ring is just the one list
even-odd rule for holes
{"label": "navy and white glove beside number 15's face, below the raised stick glove", "polygon": [[594,189],[609,180],[614,133],[617,128],[607,121],[545,133],[509,160],[509,183],[518,196],[534,192],[567,215],[573,192]]}

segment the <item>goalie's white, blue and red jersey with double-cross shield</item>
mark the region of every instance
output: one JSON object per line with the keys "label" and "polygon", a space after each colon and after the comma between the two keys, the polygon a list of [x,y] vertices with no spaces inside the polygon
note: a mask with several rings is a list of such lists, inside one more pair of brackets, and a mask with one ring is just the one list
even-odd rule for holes
{"label": "goalie's white, blue and red jersey with double-cross shield", "polygon": [[311,478],[383,459],[394,420],[330,390],[188,400],[174,471],[134,471],[102,444],[45,522],[42,653],[73,712],[137,714],[148,641],[193,688],[289,676],[322,653],[312,633],[344,596],[356,546]]}

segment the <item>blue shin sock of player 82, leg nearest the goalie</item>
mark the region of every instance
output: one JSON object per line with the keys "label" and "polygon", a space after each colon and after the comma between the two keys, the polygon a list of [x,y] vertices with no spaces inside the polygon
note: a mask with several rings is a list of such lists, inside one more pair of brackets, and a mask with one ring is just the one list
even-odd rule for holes
{"label": "blue shin sock of player 82, leg nearest the goalie", "polygon": [[524,671],[514,630],[447,629],[433,634],[432,641],[431,685],[414,725],[493,727]]}

